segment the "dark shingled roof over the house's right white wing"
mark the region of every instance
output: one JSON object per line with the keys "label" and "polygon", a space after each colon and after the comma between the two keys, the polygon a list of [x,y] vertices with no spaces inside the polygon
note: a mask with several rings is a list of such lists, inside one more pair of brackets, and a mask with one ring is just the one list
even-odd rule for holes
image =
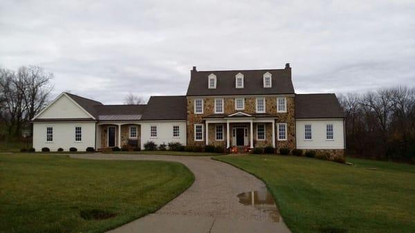
{"label": "dark shingled roof over the house's right white wing", "polygon": [[296,94],[295,118],[344,118],[344,112],[333,93]]}

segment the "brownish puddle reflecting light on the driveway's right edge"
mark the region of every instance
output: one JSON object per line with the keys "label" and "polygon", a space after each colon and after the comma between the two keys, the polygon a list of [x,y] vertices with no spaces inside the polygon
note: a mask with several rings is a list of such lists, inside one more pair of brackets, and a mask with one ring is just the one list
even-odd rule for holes
{"label": "brownish puddle reflecting light on the driveway's right edge", "polygon": [[268,192],[266,187],[256,191],[243,192],[238,194],[237,197],[239,198],[239,203],[255,207],[261,213],[268,215],[274,222],[282,222],[273,195]]}

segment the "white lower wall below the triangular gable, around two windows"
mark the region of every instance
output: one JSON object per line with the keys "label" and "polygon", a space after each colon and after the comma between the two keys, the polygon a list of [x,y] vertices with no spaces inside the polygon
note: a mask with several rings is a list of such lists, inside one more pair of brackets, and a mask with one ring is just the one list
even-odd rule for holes
{"label": "white lower wall below the triangular gable, around two windows", "polygon": [[[46,127],[53,127],[53,142],[46,142]],[[81,142],[75,142],[75,127],[82,127]],[[50,151],[57,151],[59,147],[65,151],[70,147],[76,147],[78,151],[95,148],[95,122],[34,122],[33,147],[36,151],[43,147]]]}

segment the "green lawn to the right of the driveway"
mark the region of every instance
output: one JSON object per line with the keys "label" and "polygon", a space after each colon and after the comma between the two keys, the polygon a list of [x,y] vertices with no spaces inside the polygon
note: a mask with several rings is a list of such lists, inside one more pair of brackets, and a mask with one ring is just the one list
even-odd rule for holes
{"label": "green lawn to the right of the driveway", "polygon": [[[415,232],[415,166],[296,156],[219,156],[268,186],[294,232]],[[365,169],[376,167],[376,170]]]}

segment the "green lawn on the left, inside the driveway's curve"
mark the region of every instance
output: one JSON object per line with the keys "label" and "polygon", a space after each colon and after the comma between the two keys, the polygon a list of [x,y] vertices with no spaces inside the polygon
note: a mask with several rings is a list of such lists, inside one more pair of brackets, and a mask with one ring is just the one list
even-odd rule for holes
{"label": "green lawn on the left, inside the driveway's curve", "polygon": [[176,162],[0,154],[0,232],[104,232],[155,212],[193,182]]}

